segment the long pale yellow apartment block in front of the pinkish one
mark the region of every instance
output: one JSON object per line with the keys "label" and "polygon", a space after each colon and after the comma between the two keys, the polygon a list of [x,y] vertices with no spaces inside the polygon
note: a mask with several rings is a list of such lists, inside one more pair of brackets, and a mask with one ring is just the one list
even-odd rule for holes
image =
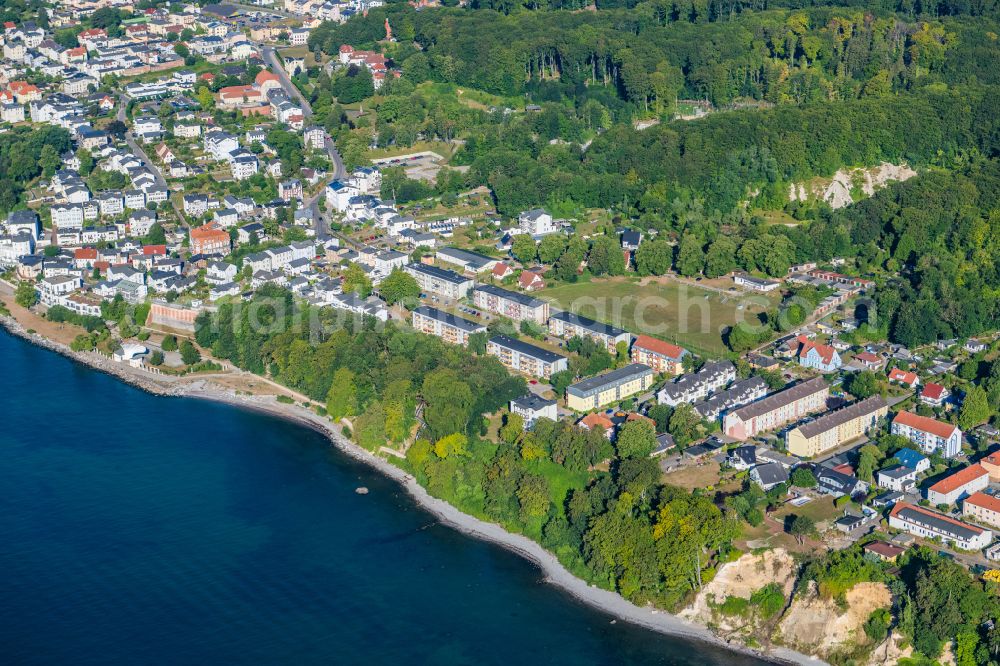
{"label": "long pale yellow apartment block in front of the pinkish one", "polygon": [[788,452],[801,458],[818,456],[861,437],[888,413],[889,405],[880,395],[827,412],[785,434]]}

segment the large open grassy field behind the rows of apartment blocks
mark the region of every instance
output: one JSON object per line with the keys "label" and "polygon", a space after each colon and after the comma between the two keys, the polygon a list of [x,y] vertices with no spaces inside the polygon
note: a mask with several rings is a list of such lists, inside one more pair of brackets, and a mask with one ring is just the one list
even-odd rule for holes
{"label": "large open grassy field behind the rows of apartment blocks", "polygon": [[728,352],[722,341],[726,327],[737,321],[755,323],[754,315],[773,306],[780,297],[725,295],[669,278],[634,277],[562,284],[537,295],[563,310],[714,357]]}

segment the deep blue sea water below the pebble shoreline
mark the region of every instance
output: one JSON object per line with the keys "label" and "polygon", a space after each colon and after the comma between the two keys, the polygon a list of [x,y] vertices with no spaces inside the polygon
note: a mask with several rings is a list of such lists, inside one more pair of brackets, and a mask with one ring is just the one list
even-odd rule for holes
{"label": "deep blue sea water below the pebble shoreline", "polygon": [[0,376],[4,664],[760,663],[611,624],[309,429],[6,333]]}

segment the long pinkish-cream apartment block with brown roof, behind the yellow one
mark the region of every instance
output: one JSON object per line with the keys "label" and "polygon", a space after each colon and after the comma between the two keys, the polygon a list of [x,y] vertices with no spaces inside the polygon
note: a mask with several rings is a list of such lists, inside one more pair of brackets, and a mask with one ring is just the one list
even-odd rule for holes
{"label": "long pinkish-cream apartment block with brown roof, behind the yellow one", "polygon": [[830,387],[816,377],[726,414],[723,431],[740,441],[774,430],[826,407]]}

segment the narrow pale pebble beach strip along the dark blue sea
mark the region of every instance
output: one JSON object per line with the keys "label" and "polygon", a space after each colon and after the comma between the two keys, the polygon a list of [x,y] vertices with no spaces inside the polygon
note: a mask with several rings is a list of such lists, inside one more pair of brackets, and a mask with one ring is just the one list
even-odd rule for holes
{"label": "narrow pale pebble beach strip along the dark blue sea", "polygon": [[[181,378],[170,375],[158,378],[160,376],[117,363],[96,352],[75,352],[68,346],[45,338],[38,333],[29,333],[13,317],[0,317],[0,326],[11,335],[61,354],[86,365],[90,369],[112,375],[153,395],[211,400],[231,407],[265,413],[311,428],[326,436],[333,447],[341,453],[399,483],[419,507],[433,515],[440,523],[519,555],[541,570],[544,582],[562,590],[577,602],[601,611],[615,620],[622,620],[664,635],[707,643],[772,663],[817,665],[825,663],[817,657],[802,654],[790,648],[774,646],[768,650],[756,650],[735,641],[727,641],[712,633],[704,625],[682,619],[667,611],[637,606],[616,592],[591,586],[567,570],[541,544],[524,535],[508,532],[499,524],[489,523],[466,514],[448,502],[432,497],[423,486],[417,483],[413,476],[387,460],[356,446],[344,437],[339,425],[318,416],[298,403],[280,403],[273,396],[237,394],[232,389],[213,385],[211,379],[199,379],[197,375],[183,378],[190,381],[178,381]],[[170,386],[175,382],[176,385]]]}

